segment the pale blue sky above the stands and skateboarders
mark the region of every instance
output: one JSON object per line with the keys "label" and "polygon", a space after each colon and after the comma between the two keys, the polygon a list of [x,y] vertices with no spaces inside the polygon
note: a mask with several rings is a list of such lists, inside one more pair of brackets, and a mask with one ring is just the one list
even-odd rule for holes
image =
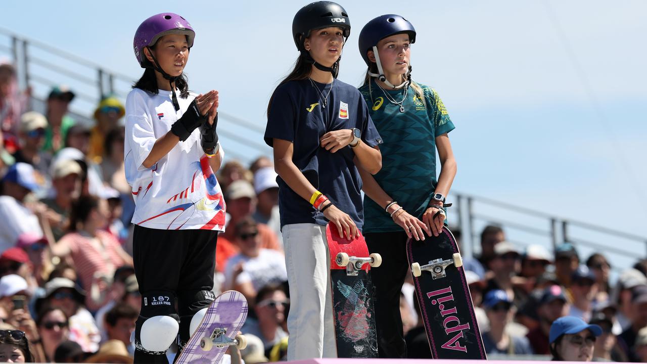
{"label": "pale blue sky above the stands and skateboarders", "polygon": [[[12,1],[2,27],[134,79],[135,29],[177,12],[197,31],[191,88],[218,89],[222,111],[264,128],[270,93],[297,56],[292,17],[306,3]],[[339,78],[362,80],[357,37],[369,19],[409,19],[413,78],[437,89],[457,127],[456,190],[647,236],[647,2],[402,4],[342,2],[352,30]]]}

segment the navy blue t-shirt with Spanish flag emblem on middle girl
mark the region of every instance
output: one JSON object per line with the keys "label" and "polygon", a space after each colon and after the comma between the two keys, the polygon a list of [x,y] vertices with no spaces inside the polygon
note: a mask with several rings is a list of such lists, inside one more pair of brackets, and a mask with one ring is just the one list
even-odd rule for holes
{"label": "navy blue t-shirt with Spanish flag emblem on middle girl", "polygon": [[[327,105],[323,108],[325,95],[328,95]],[[265,142],[269,146],[273,146],[273,138],[292,142],[294,165],[314,188],[349,214],[361,230],[364,223],[360,195],[362,179],[353,163],[355,153],[350,146],[331,153],[322,148],[319,141],[329,131],[351,128],[361,130],[362,141],[369,146],[382,143],[364,97],[355,87],[339,80],[334,80],[332,85],[318,82],[313,85],[309,79],[290,81],[274,91],[267,115]],[[281,227],[292,223],[328,223],[310,201],[296,194],[281,177],[276,177],[276,182]]]}

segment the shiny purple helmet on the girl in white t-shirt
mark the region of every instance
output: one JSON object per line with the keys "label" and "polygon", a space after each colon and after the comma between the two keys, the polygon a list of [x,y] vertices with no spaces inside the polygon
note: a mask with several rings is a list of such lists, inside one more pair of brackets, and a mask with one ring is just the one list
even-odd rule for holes
{"label": "shiny purple helmet on the girl in white t-shirt", "polygon": [[189,48],[193,47],[195,31],[184,17],[173,13],[151,16],[139,25],[135,32],[135,40],[133,40],[135,58],[142,68],[146,68],[150,64],[144,56],[144,48],[151,47],[166,34],[182,34],[186,36]]}

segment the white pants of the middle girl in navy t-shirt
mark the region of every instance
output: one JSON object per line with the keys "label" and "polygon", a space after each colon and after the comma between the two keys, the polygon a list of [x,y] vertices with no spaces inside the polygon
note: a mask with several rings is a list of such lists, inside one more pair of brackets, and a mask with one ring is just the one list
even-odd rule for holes
{"label": "white pants of the middle girl in navy t-shirt", "polygon": [[285,225],[283,247],[290,284],[287,359],[336,358],[325,226]]}

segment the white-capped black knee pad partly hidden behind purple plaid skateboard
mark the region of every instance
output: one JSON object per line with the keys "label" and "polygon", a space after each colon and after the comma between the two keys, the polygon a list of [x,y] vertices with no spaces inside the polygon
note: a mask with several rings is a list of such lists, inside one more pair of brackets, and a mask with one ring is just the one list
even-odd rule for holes
{"label": "white-capped black knee pad partly hidden behind purple plaid skateboard", "polygon": [[197,330],[206,313],[206,308],[214,302],[215,295],[212,291],[193,291],[179,293],[180,341],[186,343]]}

